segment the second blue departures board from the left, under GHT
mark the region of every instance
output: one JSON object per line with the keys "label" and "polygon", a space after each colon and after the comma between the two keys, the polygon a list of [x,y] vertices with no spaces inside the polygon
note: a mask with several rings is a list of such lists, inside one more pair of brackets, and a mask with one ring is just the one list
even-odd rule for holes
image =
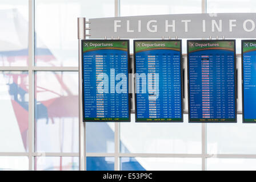
{"label": "second blue departures board from the left, under GHT", "polygon": [[135,40],[136,122],[183,122],[181,40]]}

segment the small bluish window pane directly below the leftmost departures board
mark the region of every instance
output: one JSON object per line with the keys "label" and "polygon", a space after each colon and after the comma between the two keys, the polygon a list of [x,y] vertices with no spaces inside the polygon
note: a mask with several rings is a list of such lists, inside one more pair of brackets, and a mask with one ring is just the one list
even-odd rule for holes
{"label": "small bluish window pane directly below the leftmost departures board", "polygon": [[114,153],[114,123],[86,123],[86,152]]}

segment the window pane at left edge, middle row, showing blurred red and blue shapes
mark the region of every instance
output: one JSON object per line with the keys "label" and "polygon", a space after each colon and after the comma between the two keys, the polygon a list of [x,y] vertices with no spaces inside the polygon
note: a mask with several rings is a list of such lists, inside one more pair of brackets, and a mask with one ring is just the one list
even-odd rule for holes
{"label": "window pane at left edge, middle row, showing blurred red and blue shapes", "polygon": [[29,127],[27,72],[0,71],[0,152],[26,152]]}

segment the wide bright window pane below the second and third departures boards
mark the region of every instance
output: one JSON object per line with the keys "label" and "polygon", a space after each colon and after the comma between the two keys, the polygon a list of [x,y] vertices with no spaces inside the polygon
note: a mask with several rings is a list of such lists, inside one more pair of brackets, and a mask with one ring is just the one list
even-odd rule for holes
{"label": "wide bright window pane below the second and third departures boards", "polygon": [[121,123],[121,152],[201,154],[201,123]]}

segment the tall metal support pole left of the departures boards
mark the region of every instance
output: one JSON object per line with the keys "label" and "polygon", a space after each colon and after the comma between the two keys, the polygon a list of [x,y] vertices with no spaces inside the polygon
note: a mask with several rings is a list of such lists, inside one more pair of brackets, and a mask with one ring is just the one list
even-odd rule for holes
{"label": "tall metal support pole left of the departures boards", "polygon": [[79,170],[86,170],[86,127],[83,122],[83,110],[82,110],[82,39],[86,38],[86,19],[77,19],[77,30],[78,30],[78,60],[79,60],[79,90],[78,90],[78,103],[79,103]]}

